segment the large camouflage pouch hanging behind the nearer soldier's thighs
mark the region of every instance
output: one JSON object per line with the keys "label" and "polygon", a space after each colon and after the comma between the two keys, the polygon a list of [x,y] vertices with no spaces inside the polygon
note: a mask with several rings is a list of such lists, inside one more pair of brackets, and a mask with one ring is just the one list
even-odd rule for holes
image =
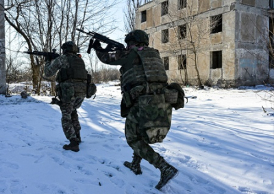
{"label": "large camouflage pouch hanging behind the nearer soldier's thighs", "polygon": [[139,96],[139,128],[146,143],[162,142],[171,128],[171,104],[164,94]]}

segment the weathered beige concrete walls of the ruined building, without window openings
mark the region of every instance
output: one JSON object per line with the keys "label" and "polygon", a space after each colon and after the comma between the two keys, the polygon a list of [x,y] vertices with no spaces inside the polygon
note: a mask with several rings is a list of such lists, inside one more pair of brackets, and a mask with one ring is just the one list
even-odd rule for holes
{"label": "weathered beige concrete walls of the ruined building, without window openings", "polygon": [[[169,57],[169,81],[184,80],[185,73],[178,70],[177,55],[187,55],[187,76],[190,84],[197,84],[194,55],[187,49],[179,49],[177,26],[184,25],[184,17],[190,10],[176,10],[177,1],[169,0],[169,15],[161,16],[161,3],[166,0],[151,1],[139,8],[136,14],[136,27],[149,33],[149,44],[160,51],[161,57]],[[268,26],[265,16],[269,7],[267,0],[188,0],[192,13],[199,14],[201,29],[210,24],[210,16],[222,14],[223,30],[219,33],[205,33],[196,39],[201,46],[198,53],[199,74],[203,83],[223,87],[262,84],[268,72],[268,50],[265,40],[268,36],[259,29]],[[140,13],[147,10],[147,21],[140,22]],[[173,16],[171,16],[173,15]],[[176,18],[177,16],[177,18]],[[258,27],[258,28],[256,28]],[[162,43],[162,33],[169,29],[169,42]],[[196,28],[197,29],[197,28]],[[193,31],[196,30],[195,27]],[[206,29],[205,29],[206,31]],[[195,36],[195,33],[193,33]],[[189,44],[181,42],[184,47]],[[211,52],[222,51],[222,68],[212,69]],[[251,55],[251,52],[254,53]],[[262,60],[263,59],[263,60]],[[264,63],[262,62],[264,61]],[[274,74],[271,70],[270,74]]]}

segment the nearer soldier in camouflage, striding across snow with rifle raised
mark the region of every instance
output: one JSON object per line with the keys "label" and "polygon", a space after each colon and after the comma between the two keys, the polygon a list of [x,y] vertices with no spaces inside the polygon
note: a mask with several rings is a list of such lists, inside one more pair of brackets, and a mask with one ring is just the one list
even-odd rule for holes
{"label": "nearer soldier in camouflage, striding across snow with rifle raised", "polygon": [[108,52],[109,45],[104,49],[98,40],[90,40],[104,64],[121,66],[121,116],[126,117],[125,137],[134,151],[133,161],[125,161],[124,165],[138,175],[142,174],[142,158],[149,161],[161,171],[160,182],[155,186],[160,190],[178,174],[175,167],[149,146],[149,143],[162,142],[171,126],[172,107],[160,94],[168,77],[158,50],[148,47],[149,37],[145,31],[130,32],[125,42],[125,50]]}

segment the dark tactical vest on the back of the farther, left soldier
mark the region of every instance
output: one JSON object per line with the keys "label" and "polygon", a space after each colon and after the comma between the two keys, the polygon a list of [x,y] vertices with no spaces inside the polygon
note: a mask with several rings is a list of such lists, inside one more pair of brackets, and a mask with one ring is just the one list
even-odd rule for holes
{"label": "dark tactical vest on the back of the farther, left soldier", "polygon": [[59,70],[56,81],[58,81],[58,83],[62,83],[69,79],[75,79],[79,81],[86,80],[87,72],[83,59],[77,57],[76,55],[66,55],[66,57],[69,61],[69,66]]}

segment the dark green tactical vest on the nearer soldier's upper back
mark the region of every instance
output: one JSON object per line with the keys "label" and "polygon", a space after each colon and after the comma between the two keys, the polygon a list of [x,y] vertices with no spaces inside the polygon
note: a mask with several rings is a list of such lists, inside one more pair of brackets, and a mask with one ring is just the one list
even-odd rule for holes
{"label": "dark green tactical vest on the nearer soldier's upper back", "polygon": [[123,85],[167,82],[166,70],[157,50],[147,46],[142,51],[138,51],[138,48],[132,50],[134,52],[129,54],[129,61],[133,61],[135,57],[139,56],[142,65],[134,65],[122,74]]}

